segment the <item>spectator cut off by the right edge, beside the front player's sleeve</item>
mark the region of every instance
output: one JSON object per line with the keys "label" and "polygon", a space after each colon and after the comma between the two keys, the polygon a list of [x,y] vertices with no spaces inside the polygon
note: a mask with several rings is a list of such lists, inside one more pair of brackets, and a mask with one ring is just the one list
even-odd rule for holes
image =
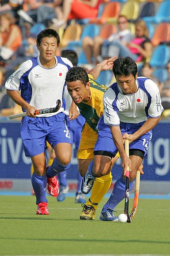
{"label": "spectator cut off by the right edge, beside the front player's sleeve", "polygon": [[170,109],[170,61],[167,64],[168,78],[162,83],[161,100],[164,109]]}

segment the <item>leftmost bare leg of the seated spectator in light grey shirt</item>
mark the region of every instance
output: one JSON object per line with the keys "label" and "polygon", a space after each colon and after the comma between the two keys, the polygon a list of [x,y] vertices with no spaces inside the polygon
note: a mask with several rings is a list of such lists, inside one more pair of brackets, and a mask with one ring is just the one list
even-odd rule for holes
{"label": "leftmost bare leg of the seated spectator in light grey shirt", "polygon": [[92,63],[94,40],[90,36],[85,36],[82,40],[82,48],[88,63]]}

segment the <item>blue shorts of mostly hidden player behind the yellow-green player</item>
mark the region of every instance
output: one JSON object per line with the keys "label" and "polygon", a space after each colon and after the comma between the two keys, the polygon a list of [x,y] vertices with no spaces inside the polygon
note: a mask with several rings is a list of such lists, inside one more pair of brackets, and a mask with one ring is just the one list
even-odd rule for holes
{"label": "blue shorts of mostly hidden player behind the yellow-green player", "polygon": [[71,135],[71,142],[73,145],[73,142],[75,143],[75,148],[78,150],[80,139],[81,139],[81,132],[83,125],[85,123],[84,117],[79,115],[76,119],[73,119],[72,121],[68,121],[68,128]]}

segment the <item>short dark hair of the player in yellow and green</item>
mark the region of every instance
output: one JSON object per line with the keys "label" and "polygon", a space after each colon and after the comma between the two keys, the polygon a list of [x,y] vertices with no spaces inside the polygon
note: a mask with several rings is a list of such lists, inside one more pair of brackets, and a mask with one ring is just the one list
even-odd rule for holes
{"label": "short dark hair of the player in yellow and green", "polygon": [[80,80],[85,86],[89,82],[89,77],[86,69],[80,66],[73,66],[69,69],[66,75],[66,82]]}

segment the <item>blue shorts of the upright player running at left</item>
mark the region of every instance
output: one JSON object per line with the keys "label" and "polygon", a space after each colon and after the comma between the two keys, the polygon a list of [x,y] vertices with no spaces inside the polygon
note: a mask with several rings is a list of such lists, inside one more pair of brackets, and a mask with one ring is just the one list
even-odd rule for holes
{"label": "blue shorts of the upright player running at left", "polygon": [[26,157],[33,157],[47,149],[47,141],[53,148],[58,143],[69,143],[70,132],[67,127],[67,117],[59,113],[51,117],[24,117],[21,124]]}

